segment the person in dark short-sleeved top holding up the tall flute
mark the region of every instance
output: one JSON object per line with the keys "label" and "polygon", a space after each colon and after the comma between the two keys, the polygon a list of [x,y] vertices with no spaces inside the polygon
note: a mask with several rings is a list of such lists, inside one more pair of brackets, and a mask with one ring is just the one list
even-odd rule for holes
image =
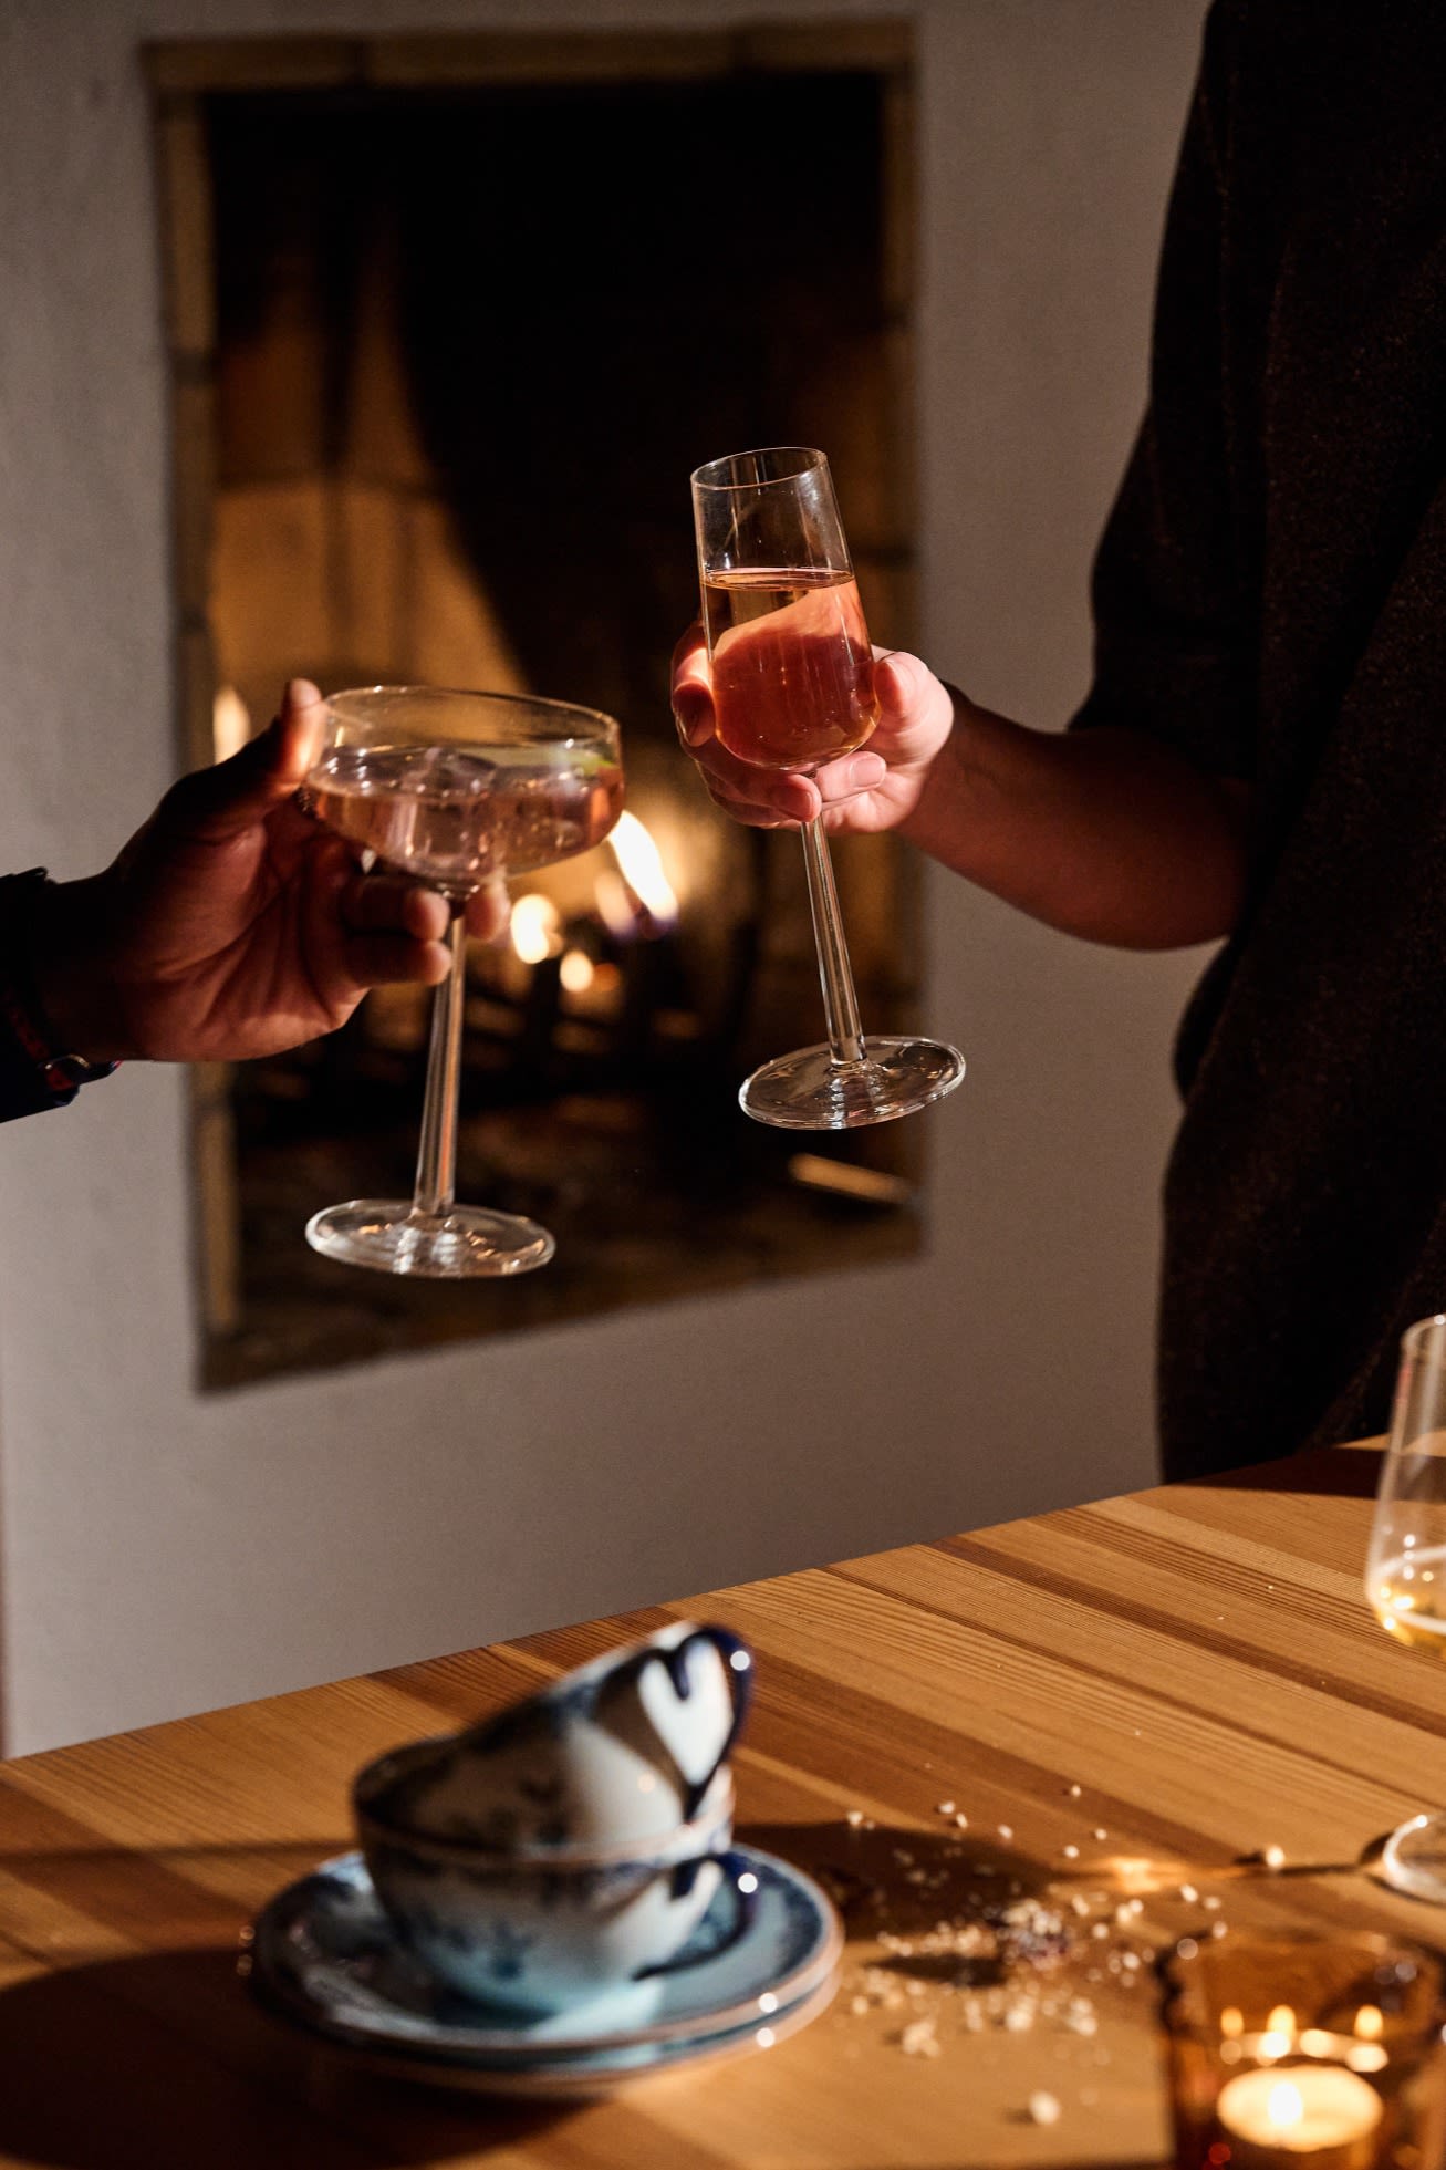
{"label": "person in dark short-sleeved top holding up the tall flute", "polygon": [[816,781],[680,733],[743,820],[897,827],[1038,918],[1222,940],[1177,1042],[1170,1478],[1379,1430],[1446,1306],[1446,11],[1216,0],[1094,684],[1029,731],[879,668]]}

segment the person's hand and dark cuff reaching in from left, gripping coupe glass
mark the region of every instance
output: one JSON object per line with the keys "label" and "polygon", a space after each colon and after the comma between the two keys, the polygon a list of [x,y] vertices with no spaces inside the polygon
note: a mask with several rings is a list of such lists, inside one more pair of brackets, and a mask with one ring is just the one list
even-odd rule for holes
{"label": "person's hand and dark cuff reaching in from left, gripping coupe glass", "polygon": [[[295,792],[321,694],[293,679],[241,753],[176,783],[102,875],[0,879],[0,1122],[119,1061],[245,1061],[330,1033],[382,981],[436,983],[447,903],[358,872]],[[497,896],[469,903],[475,933]]]}

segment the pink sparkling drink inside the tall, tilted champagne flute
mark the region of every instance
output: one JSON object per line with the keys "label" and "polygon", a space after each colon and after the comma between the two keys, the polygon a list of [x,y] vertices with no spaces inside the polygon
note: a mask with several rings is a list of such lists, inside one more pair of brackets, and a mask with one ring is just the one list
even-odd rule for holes
{"label": "pink sparkling drink inside the tall, tilted champagne flute", "polygon": [[719,744],[751,768],[812,770],[879,720],[851,573],[747,569],[703,579]]}

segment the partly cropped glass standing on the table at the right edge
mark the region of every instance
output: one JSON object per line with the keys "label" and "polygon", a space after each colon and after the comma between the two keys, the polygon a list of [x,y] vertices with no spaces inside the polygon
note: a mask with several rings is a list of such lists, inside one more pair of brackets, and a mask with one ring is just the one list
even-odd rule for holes
{"label": "partly cropped glass standing on the table at the right edge", "polygon": [[[1446,1658],[1446,1313],[1400,1341],[1366,1595],[1398,1643]],[[1381,1868],[1396,1890],[1446,1903],[1446,1812],[1392,1831]]]}

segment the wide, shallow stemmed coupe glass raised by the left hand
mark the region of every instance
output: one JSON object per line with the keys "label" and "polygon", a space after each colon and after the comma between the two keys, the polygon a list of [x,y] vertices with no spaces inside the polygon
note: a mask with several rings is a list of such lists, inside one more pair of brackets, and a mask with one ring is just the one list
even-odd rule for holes
{"label": "wide, shallow stemmed coupe glass raised by the left hand", "polygon": [[330,697],[304,803],[339,835],[452,905],[452,970],[436,990],[410,1200],[354,1198],[306,1224],[328,1259],[380,1274],[467,1280],[547,1265],[536,1222],[458,1204],[465,905],[497,875],[554,866],[601,844],[623,805],[610,716],[530,694],[367,686]]}

